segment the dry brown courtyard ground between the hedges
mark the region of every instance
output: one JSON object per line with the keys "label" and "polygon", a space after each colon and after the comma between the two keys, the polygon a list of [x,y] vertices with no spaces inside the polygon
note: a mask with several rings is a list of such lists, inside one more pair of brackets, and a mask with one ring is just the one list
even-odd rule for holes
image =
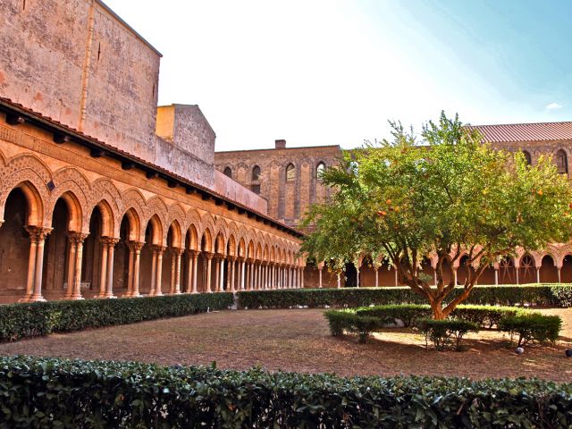
{"label": "dry brown courtyard ground between the hedges", "polygon": [[367,344],[354,336],[332,337],[323,309],[212,312],[110,328],[52,334],[0,344],[0,355],[27,354],[81,359],[139,360],[161,365],[211,365],[244,370],[340,375],[453,375],[572,379],[572,308],[560,315],[563,329],[553,345],[526,347],[517,356],[500,332],[467,336],[467,351],[425,349],[424,337],[408,330],[374,334]]}

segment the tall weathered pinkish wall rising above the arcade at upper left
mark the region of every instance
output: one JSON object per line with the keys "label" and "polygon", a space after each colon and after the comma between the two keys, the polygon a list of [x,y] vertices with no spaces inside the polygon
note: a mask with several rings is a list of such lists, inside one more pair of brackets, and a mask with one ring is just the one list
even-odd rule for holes
{"label": "tall weathered pinkish wall rising above the arcade at upper left", "polygon": [[0,96],[153,160],[160,54],[99,1],[0,3]]}

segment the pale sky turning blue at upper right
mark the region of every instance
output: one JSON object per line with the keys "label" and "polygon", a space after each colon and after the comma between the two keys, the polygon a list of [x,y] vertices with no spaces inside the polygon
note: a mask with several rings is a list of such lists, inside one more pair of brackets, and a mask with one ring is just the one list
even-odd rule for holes
{"label": "pale sky turning blue at upper right", "polygon": [[[164,55],[160,104],[198,104],[217,150],[572,121],[572,2],[105,0]],[[160,4],[160,7],[159,7]]]}

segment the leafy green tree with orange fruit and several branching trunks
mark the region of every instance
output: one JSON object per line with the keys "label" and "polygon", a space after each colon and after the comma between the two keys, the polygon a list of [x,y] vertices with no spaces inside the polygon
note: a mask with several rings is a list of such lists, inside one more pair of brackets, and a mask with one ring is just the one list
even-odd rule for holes
{"label": "leafy green tree with orange fruit and several branching trunks", "polygon": [[[572,190],[550,156],[528,165],[523,154],[493,149],[444,113],[425,124],[422,144],[413,130],[391,125],[391,141],[366,143],[323,173],[333,194],[305,218],[314,226],[301,249],[308,256],[333,261],[337,271],[359,255],[383,257],[442,319],[501,257],[570,239]],[[430,255],[437,259],[434,287],[421,270]],[[467,269],[462,291],[450,299],[456,285],[444,281],[446,260]]]}

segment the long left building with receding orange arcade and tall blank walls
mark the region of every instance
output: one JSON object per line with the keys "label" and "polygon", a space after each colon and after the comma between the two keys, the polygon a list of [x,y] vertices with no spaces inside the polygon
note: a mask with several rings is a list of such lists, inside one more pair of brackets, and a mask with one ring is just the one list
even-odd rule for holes
{"label": "long left building with receding orange arcade and tall blank walls", "polygon": [[299,231],[99,0],[0,0],[0,301],[303,285]]}

